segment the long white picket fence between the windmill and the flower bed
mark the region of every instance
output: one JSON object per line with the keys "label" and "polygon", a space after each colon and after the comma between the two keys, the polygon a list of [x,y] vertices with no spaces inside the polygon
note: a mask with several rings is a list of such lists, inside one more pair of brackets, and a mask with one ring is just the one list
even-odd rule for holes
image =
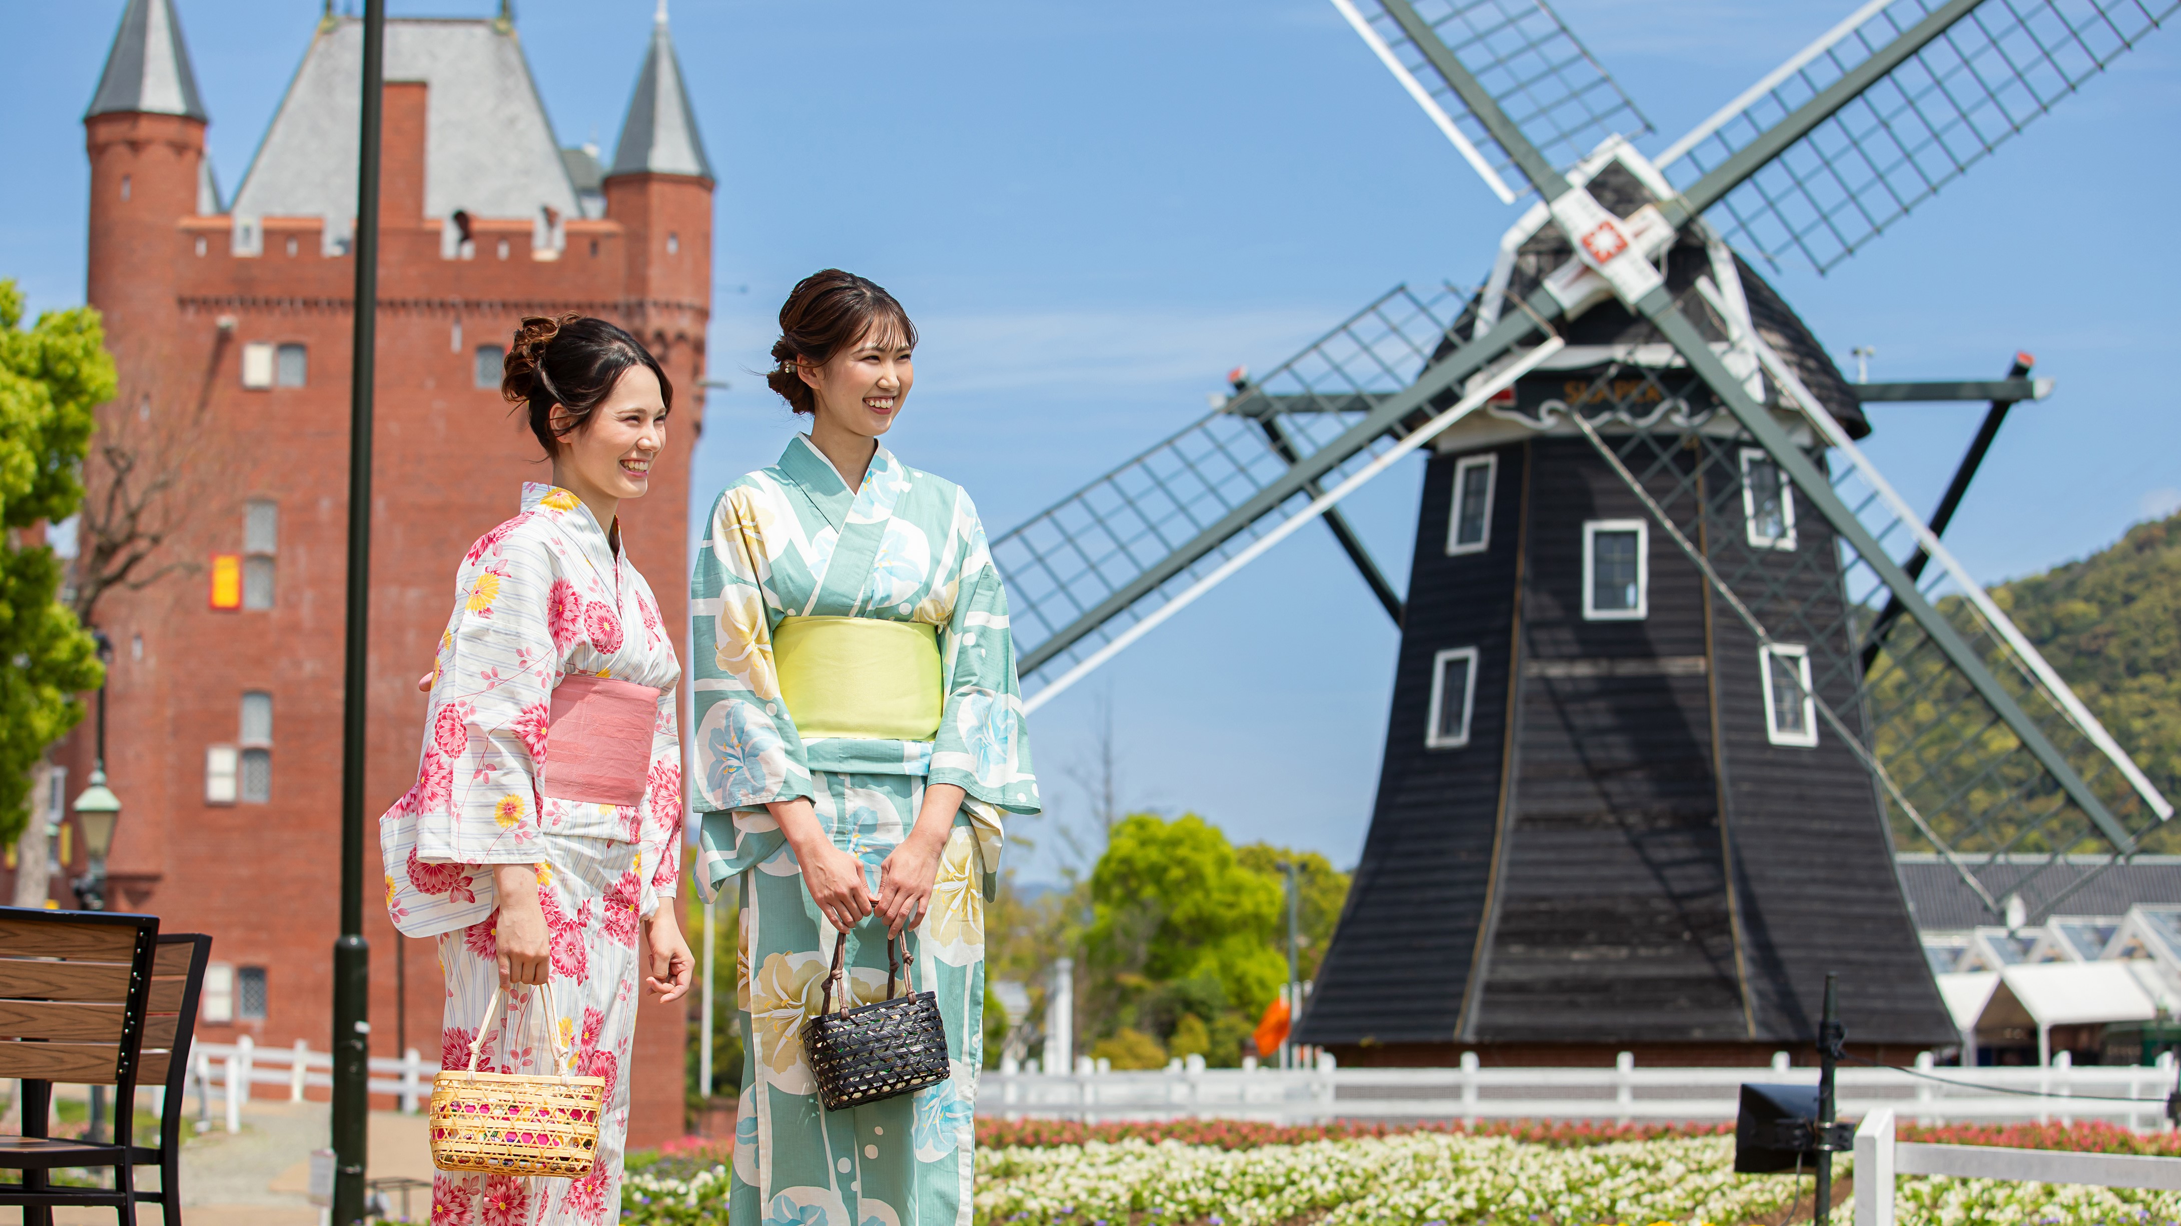
{"label": "long white picket fence between the windmill and the flower bed", "polygon": [[[1191,1063],[1195,1065],[1195,1063]],[[1919,1069],[1963,1084],[1941,1084],[1893,1069],[1841,1067],[1841,1117],[1893,1108],[1919,1121],[1954,1119],[2109,1119],[2157,1128],[2174,1089],[2172,1058],[2157,1067],[1932,1067]],[[988,1071],[979,1076],[977,1113],[1058,1119],[1224,1117],[1269,1124],[1324,1119],[1734,1119],[1743,1082],[1817,1084],[1815,1067],[1688,1069],[1636,1067],[1627,1052],[1610,1069],[1485,1069],[1474,1056],[1457,1069],[1313,1069],[1158,1071]],[[2126,1098],[2131,1102],[2109,1102]]]}

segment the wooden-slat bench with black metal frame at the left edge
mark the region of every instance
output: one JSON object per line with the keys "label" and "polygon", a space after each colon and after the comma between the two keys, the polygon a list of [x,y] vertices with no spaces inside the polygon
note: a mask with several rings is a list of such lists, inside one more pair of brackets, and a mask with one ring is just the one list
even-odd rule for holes
{"label": "wooden-slat bench with black metal frame at the left edge", "polygon": [[[196,997],[212,936],[159,936],[155,915],[0,908],[0,1078],[22,1078],[22,1135],[0,1137],[0,1204],[24,1206],[24,1226],[50,1226],[52,1206],[113,1206],[135,1224],[137,1204],[181,1222],[181,1111]],[[109,1141],[50,1137],[52,1084],[113,1087]],[[166,1087],[157,1145],[135,1143],[135,1089]],[[133,1167],[159,1167],[159,1189],[137,1191]],[[107,1167],[113,1187],[55,1187],[50,1172]]]}

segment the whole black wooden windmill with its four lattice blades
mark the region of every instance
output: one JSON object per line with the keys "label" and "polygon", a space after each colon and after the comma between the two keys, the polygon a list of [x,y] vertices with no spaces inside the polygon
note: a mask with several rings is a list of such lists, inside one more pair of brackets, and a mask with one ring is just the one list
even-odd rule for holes
{"label": "whole black wooden windmill with its four lattice blades", "polygon": [[[1322,516],[1402,642],[1298,1041],[1743,1061],[1839,971],[1854,1041],[1952,1043],[1895,847],[1998,917],[1983,869],[2172,806],[1932,531],[2046,385],[1849,383],[1736,248],[1839,263],[2181,4],[1871,0],[1655,157],[1540,0],[1333,4],[1538,203],[1481,292],[1394,290],[995,540],[1032,708]],[[1915,399],[1993,401],[1932,525],[1854,446]],[[1335,503],[1418,449],[1402,601]]]}

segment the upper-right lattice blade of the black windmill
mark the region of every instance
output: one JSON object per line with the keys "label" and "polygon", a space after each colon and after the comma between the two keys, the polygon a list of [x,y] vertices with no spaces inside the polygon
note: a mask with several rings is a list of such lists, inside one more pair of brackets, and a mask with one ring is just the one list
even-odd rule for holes
{"label": "upper-right lattice blade of the black windmill", "polygon": [[[1668,159],[1675,187],[1767,137],[1945,0],[1895,0]],[[2096,76],[2181,0],[1985,0],[1727,192],[1743,250],[1830,270]],[[1808,54],[1808,52],[1806,52]],[[1882,61],[1880,61],[1882,63]],[[1675,148],[1686,144],[1677,142]]]}

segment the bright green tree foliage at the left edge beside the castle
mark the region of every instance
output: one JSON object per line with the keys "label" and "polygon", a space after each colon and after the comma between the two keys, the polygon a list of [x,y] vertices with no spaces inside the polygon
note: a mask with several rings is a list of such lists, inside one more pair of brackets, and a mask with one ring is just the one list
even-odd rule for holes
{"label": "bright green tree foliage at the left edge beside the castle", "polygon": [[28,819],[31,767],[83,719],[105,677],[92,636],[57,597],[61,564],[28,527],[83,501],[92,407],[113,399],[98,311],[46,311],[22,329],[22,292],[0,281],[0,841]]}

